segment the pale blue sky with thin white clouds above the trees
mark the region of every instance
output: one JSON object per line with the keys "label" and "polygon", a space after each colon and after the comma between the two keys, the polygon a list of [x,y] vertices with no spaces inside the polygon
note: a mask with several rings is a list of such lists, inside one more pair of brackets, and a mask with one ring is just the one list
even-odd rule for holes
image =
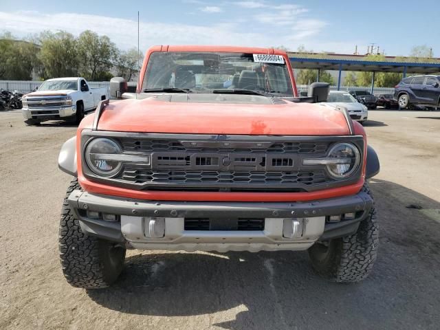
{"label": "pale blue sky with thin white clouds above the trees", "polygon": [[[361,1],[19,1],[2,0],[0,32],[42,30],[107,34],[118,47],[157,44],[278,46],[315,52],[361,53],[375,43],[387,55],[427,45],[440,57],[440,0]],[[428,13],[435,13],[429,18]]]}

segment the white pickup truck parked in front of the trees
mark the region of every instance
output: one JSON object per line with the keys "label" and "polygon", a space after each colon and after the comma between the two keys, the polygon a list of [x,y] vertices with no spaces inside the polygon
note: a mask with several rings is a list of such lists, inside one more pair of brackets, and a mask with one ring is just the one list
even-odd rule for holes
{"label": "white pickup truck parked in front of the trees", "polygon": [[23,117],[27,125],[59,119],[79,123],[84,113],[107,98],[107,87],[90,88],[85,78],[49,79],[37,91],[23,96]]}

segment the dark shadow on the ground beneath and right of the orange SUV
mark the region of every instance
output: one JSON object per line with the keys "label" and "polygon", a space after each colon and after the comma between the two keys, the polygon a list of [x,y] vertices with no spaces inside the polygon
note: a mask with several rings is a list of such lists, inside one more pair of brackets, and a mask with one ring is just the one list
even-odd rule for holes
{"label": "dark shadow on the ground beneath and right of the orange SUV", "polygon": [[127,314],[212,314],[223,329],[438,329],[440,203],[389,181],[371,188],[380,253],[362,283],[323,280],[307,252],[169,252],[127,258],[118,283],[87,294]]}

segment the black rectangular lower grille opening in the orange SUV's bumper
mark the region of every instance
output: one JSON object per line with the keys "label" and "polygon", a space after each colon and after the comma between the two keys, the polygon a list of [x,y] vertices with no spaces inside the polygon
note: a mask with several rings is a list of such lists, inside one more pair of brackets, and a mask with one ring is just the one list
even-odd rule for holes
{"label": "black rectangular lower grille opening in the orange SUV's bumper", "polygon": [[228,231],[258,231],[264,230],[265,219],[210,219],[185,218],[184,230],[228,230]]}

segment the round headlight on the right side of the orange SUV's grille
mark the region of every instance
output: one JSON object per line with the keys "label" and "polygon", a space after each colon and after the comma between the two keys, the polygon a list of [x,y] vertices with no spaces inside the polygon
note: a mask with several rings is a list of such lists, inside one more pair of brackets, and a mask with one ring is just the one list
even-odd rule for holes
{"label": "round headlight on the right side of the orange SUV's grille", "polygon": [[336,179],[345,179],[358,169],[360,152],[351,143],[340,143],[330,149],[327,159],[329,174]]}

